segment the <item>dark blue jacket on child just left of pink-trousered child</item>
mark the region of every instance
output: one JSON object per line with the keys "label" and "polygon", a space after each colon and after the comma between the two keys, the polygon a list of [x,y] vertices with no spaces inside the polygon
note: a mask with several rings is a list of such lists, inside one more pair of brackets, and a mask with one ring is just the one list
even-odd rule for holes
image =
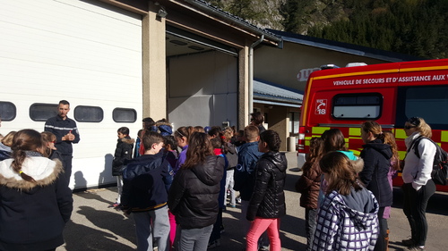
{"label": "dark blue jacket on child just left of pink-trousered child", "polygon": [[243,144],[237,147],[238,164],[235,170],[235,185],[242,200],[249,201],[254,192],[255,166],[263,153],[258,152],[258,141]]}

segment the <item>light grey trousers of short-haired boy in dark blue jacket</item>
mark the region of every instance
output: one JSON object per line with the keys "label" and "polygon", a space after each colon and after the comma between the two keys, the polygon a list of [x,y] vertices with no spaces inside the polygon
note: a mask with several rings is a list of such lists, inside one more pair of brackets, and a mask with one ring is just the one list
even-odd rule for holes
{"label": "light grey trousers of short-haired boy in dark blue jacket", "polygon": [[[137,250],[152,251],[152,238],[157,241],[159,251],[169,250],[169,219],[167,206],[141,213],[133,213]],[[152,233],[154,236],[152,236]]]}

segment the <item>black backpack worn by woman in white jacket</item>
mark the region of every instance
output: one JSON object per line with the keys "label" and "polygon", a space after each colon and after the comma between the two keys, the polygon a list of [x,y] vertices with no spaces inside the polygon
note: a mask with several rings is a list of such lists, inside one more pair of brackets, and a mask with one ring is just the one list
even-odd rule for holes
{"label": "black backpack worn by woman in white jacket", "polygon": [[[414,148],[415,155],[420,157],[420,154],[418,154],[418,143],[420,140],[422,140],[423,136],[420,136],[412,142],[412,144],[409,147],[409,150]],[[435,143],[431,138],[426,138],[429,141],[433,142],[435,145],[435,156],[434,156],[434,163],[433,163],[433,172],[431,172],[431,178],[434,180],[434,183],[437,185],[446,185],[446,178],[448,173],[448,154],[440,147],[437,143]],[[408,152],[409,152],[408,150]]]}

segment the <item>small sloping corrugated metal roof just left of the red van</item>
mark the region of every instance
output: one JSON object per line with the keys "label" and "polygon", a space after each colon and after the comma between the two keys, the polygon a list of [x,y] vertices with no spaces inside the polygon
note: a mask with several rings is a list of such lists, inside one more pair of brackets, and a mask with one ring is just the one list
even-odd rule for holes
{"label": "small sloping corrugated metal roof just left of the red van", "polygon": [[254,103],[299,107],[304,92],[263,79],[254,79]]}

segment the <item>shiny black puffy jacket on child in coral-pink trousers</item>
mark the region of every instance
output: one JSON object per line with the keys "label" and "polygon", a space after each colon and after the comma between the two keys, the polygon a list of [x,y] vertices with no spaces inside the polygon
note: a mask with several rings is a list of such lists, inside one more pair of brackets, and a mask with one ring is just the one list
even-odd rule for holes
{"label": "shiny black puffy jacket on child in coral-pink trousers", "polygon": [[247,208],[246,219],[280,218],[286,214],[285,186],[286,156],[279,152],[268,152],[260,157],[255,167],[255,186]]}

